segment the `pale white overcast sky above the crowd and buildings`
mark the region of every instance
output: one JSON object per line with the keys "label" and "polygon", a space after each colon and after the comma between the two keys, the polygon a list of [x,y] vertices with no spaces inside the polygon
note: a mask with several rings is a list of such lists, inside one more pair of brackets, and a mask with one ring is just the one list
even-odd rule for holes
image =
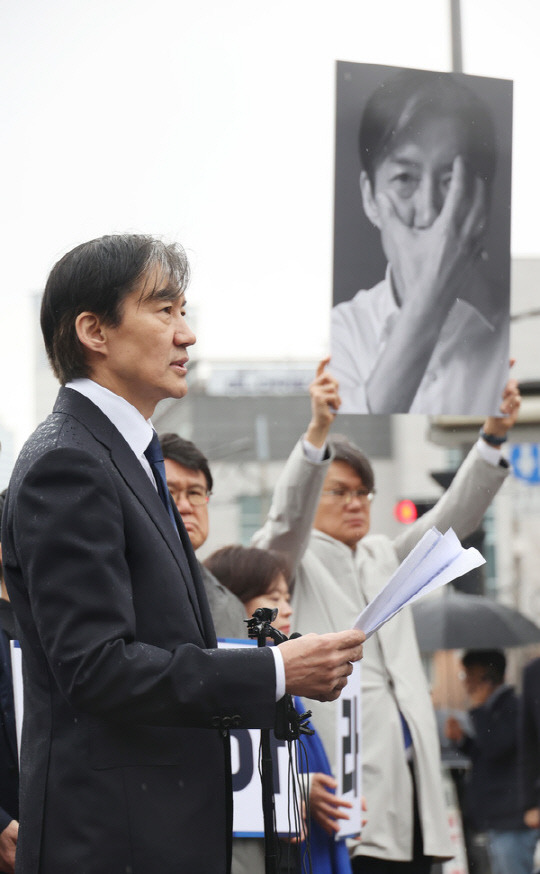
{"label": "pale white overcast sky above the crowd and buildings", "polygon": [[[449,70],[449,0],[2,0],[0,423],[34,426],[32,293],[104,233],[179,240],[199,354],[318,357],[335,61]],[[462,0],[464,71],[513,79],[512,252],[540,255],[537,0]]]}

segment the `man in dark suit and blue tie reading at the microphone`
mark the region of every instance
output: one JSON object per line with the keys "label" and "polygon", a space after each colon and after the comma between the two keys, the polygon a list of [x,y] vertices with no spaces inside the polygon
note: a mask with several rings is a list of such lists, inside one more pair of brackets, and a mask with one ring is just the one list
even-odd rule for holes
{"label": "man in dark suit and blue tie reading at the microphone", "polygon": [[62,383],[3,519],[25,716],[22,874],[224,874],[231,726],[285,692],[334,700],[359,632],[219,651],[149,417],[187,391],[188,265],[137,235],[53,268],[41,325]]}

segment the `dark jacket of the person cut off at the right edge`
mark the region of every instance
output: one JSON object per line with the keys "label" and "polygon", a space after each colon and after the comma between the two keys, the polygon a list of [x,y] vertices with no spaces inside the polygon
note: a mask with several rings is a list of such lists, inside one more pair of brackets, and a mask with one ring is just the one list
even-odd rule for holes
{"label": "dark jacket of the person cut off at the right edge", "polygon": [[540,658],[523,671],[519,753],[521,804],[526,811],[540,807]]}

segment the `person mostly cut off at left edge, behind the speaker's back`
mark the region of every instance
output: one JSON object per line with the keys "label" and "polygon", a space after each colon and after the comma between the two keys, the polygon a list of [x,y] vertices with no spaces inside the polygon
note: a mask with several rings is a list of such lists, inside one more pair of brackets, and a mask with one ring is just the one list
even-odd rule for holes
{"label": "person mostly cut off at left edge, behind the speaker's back", "polygon": [[[6,490],[0,493],[0,528]],[[11,673],[10,640],[16,638],[15,618],[2,569],[0,543],[0,872],[13,874],[19,832],[19,761]]]}

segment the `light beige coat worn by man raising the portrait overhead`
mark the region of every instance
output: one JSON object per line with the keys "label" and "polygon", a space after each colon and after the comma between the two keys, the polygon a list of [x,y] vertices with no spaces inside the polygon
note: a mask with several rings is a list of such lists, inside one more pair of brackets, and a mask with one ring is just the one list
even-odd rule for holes
{"label": "light beige coat worn by man raising the portrait overhead", "polygon": [[[368,535],[353,551],[312,530],[328,461],[310,462],[300,441],[276,485],[268,519],[255,535],[259,547],[284,552],[293,567],[293,625],[308,632],[349,628],[399,562],[431,526],[475,530],[508,474],[473,447],[437,505],[395,540]],[[336,703],[309,702],[313,722],[334,761]],[[362,787],[368,822],[354,854],[406,861],[412,857],[412,781],[399,711],[413,739],[413,763],[424,852],[453,855],[441,786],[440,753],[429,689],[408,608],[364,645],[362,660]]]}

